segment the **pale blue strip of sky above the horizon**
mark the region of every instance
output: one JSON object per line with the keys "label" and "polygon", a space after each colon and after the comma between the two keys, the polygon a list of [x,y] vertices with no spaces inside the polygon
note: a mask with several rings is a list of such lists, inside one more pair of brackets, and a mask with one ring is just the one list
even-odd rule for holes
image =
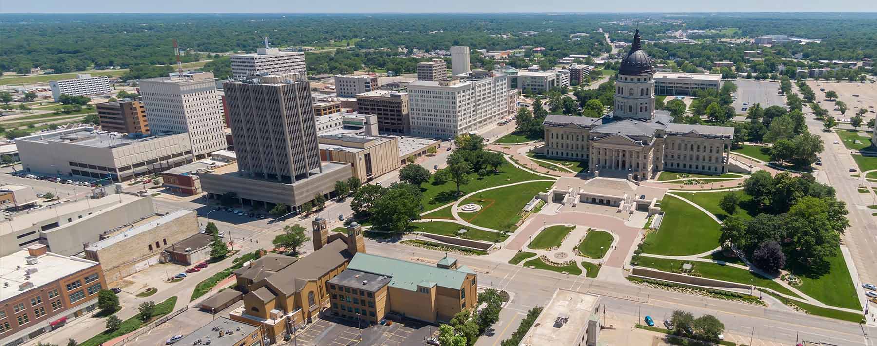
{"label": "pale blue strip of sky above the horizon", "polygon": [[0,13],[349,13],[349,12],[773,12],[877,11],[873,0],[0,0]]}

